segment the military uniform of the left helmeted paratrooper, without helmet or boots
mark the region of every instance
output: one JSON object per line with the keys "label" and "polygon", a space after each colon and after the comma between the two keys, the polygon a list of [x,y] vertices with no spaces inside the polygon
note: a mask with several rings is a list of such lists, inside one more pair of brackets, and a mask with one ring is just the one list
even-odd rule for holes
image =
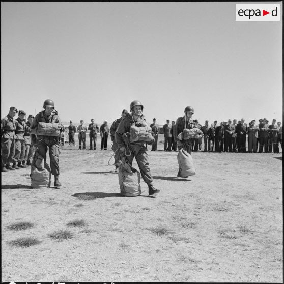
{"label": "military uniform of the left helmeted paratrooper, without helmet or boots", "polygon": [[[52,112],[50,116],[45,114],[45,110],[41,111],[36,115],[31,125],[31,129],[37,128],[40,122],[45,123],[60,123],[61,120],[58,114]],[[64,131],[64,126],[62,126],[62,131]],[[46,161],[46,153],[49,150],[49,158],[50,158],[50,169],[51,174],[54,176],[59,176],[59,155],[60,155],[60,137],[59,136],[41,136],[37,135],[37,138],[34,134],[31,134],[32,143],[33,141],[37,141],[37,149],[35,155],[41,155]]]}

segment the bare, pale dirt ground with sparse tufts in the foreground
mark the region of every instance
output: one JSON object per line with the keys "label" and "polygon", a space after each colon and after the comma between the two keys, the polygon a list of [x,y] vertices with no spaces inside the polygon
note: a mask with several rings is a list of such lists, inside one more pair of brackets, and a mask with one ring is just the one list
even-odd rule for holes
{"label": "bare, pale dirt ground with sparse tufts in the foreground", "polygon": [[[283,281],[282,154],[193,152],[186,180],[176,152],[148,151],[155,197],[143,180],[121,197],[111,155],[64,146],[60,189],[29,188],[30,167],[2,173],[2,281]],[[59,229],[73,238],[48,236]],[[9,244],[27,236],[40,243]]]}

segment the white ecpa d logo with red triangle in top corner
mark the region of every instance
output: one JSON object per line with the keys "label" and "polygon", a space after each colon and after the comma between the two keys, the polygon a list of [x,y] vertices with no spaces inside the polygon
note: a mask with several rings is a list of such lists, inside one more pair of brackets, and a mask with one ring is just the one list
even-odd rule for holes
{"label": "white ecpa d logo with red triangle in top corner", "polygon": [[280,21],[280,4],[236,4],[236,21]]}

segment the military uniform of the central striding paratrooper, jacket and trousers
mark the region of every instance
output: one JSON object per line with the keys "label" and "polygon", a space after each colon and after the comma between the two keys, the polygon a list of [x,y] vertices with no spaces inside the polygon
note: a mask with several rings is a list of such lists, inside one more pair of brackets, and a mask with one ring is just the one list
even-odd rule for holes
{"label": "military uniform of the central striding paratrooper, jacket and trousers", "polygon": [[125,118],[121,120],[118,128],[115,132],[115,140],[118,147],[125,147],[131,151],[129,157],[126,156],[126,160],[132,165],[133,158],[135,157],[138,167],[141,172],[143,180],[148,184],[148,186],[153,182],[153,178],[150,172],[148,154],[146,153],[146,147],[144,144],[133,144],[130,143],[129,138],[125,137],[125,133],[130,131],[130,126],[146,126],[146,123],[142,116],[140,116],[137,121],[134,121],[130,114],[127,114]]}

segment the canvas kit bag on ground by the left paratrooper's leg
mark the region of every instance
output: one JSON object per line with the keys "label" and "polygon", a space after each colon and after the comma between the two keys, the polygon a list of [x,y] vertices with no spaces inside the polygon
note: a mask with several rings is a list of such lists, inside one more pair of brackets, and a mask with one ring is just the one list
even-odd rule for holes
{"label": "canvas kit bag on ground by the left paratrooper's leg", "polygon": [[44,161],[43,157],[38,153],[35,153],[31,164],[30,174],[32,188],[46,188],[50,187],[51,183],[51,171],[48,164]]}

